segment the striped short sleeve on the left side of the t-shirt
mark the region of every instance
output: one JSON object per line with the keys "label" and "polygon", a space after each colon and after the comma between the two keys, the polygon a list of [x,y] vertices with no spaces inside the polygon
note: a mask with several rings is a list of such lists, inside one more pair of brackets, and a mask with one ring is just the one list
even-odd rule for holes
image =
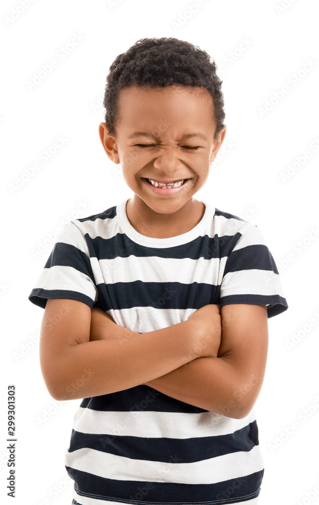
{"label": "striped short sleeve on the left side of the t-shirt", "polygon": [[97,288],[85,236],[72,221],[58,236],[44,268],[28,299],[45,308],[48,298],[82,301],[91,309],[97,300]]}

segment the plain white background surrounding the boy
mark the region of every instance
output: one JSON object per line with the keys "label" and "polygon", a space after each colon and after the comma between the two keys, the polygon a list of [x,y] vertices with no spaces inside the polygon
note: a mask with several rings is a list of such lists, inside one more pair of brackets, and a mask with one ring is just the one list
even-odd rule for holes
{"label": "plain white background surrounding the boy", "polygon": [[[15,503],[71,504],[73,481],[64,467],[64,453],[81,400],[59,403],[48,394],[38,359],[43,309],[31,304],[28,295],[54,245],[48,237],[56,228],[131,195],[117,172],[119,165],[108,159],[98,137],[98,124],[104,120],[105,78],[117,55],[138,39],[162,36],[198,45],[218,65],[226,104],[223,146],[228,142],[231,147],[228,152],[222,147],[196,197],[259,226],[289,305],[285,313],[269,320],[267,372],[255,404],[265,467],[259,503],[319,502],[319,317],[315,315],[319,240],[310,233],[319,225],[317,3],[206,1],[176,26],[193,3],[123,0],[112,7],[107,0],[30,4],[25,0],[26,7],[21,7],[21,2],[6,0],[1,4],[2,502],[12,502],[6,489],[6,402],[7,386],[15,384]],[[63,61],[57,59],[57,52],[72,44],[75,34],[83,40]],[[28,89],[28,81],[52,59],[58,60],[57,67]],[[303,70],[307,60],[312,68]],[[289,91],[280,94],[285,85]],[[268,111],[262,113],[267,101]],[[64,136],[65,144],[13,190],[58,136]],[[291,175],[284,180],[289,166]],[[81,203],[86,206],[82,211]],[[44,240],[48,245],[35,255]],[[296,247],[299,241],[301,252]],[[294,333],[300,341],[289,350],[287,341]],[[298,428],[289,430],[293,423]]]}

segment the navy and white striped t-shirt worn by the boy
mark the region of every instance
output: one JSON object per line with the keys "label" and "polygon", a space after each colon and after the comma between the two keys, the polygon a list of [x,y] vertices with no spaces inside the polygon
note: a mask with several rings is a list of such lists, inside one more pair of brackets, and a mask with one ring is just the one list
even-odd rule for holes
{"label": "navy and white striped t-shirt worn by the boy", "polygon": [[[139,333],[207,304],[267,305],[269,318],[287,310],[255,224],[202,201],[190,231],[151,238],[130,224],[126,202],[65,226],[30,301],[79,300]],[[81,505],[254,505],[264,471],[253,409],[232,419],[145,385],[81,401],[65,466]]]}

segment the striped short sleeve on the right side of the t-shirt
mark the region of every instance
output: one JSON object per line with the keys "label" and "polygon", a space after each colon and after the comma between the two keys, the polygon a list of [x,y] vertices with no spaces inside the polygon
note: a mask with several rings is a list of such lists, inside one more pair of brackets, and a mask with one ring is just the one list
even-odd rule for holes
{"label": "striped short sleeve on the right side of the t-shirt", "polygon": [[247,223],[228,254],[220,305],[267,305],[268,318],[288,309],[275,260],[259,228]]}

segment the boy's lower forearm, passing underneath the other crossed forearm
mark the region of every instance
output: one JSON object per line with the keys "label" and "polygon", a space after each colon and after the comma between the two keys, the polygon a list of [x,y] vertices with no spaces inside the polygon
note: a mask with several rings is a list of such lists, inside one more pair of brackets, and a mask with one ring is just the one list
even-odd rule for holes
{"label": "boy's lower forearm, passing underneath the other crossed forearm", "polygon": [[198,358],[144,384],[200,409],[244,417],[245,398],[239,394],[233,367],[223,358]]}

